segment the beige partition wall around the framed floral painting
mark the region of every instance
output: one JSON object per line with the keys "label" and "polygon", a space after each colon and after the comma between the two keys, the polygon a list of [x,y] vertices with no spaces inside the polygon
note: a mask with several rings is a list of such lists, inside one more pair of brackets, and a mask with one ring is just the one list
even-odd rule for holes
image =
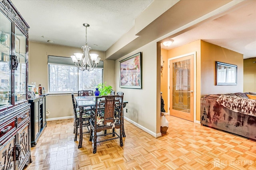
{"label": "beige partition wall around the framed floral painting", "polygon": [[[160,43],[158,48],[160,52]],[[126,106],[128,113],[125,109],[124,116],[144,131],[156,136],[160,133],[160,53],[157,54],[156,41],[116,60],[115,75],[119,75],[119,61],[138,52],[142,52],[142,89],[120,88],[119,76],[116,76],[115,90],[124,92],[124,100],[129,102]]]}

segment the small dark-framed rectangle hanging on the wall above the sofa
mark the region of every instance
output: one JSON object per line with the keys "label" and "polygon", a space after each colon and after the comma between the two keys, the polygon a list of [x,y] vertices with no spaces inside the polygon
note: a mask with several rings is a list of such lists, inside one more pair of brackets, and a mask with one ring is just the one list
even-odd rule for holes
{"label": "small dark-framed rectangle hanging on the wall above the sofa", "polygon": [[237,65],[216,61],[216,85],[237,85]]}

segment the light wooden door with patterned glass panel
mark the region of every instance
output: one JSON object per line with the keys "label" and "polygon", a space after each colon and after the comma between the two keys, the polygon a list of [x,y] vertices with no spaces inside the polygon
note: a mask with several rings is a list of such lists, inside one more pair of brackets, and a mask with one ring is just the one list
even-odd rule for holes
{"label": "light wooden door with patterned glass panel", "polygon": [[194,54],[170,60],[170,115],[194,121]]}

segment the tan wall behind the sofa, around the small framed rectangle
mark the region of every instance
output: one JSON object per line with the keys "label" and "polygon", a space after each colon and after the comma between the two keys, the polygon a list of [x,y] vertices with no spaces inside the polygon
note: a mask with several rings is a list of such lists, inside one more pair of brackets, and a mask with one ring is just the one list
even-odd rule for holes
{"label": "tan wall behind the sofa, around the small framed rectangle", "polygon": [[[237,85],[215,85],[215,62],[237,65]],[[201,41],[201,96],[243,92],[243,55],[218,45]]]}

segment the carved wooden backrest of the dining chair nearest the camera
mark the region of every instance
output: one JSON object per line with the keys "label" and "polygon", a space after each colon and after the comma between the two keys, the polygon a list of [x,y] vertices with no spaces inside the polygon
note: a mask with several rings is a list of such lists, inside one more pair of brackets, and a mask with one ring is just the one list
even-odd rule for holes
{"label": "carved wooden backrest of the dining chair nearest the camera", "polygon": [[[116,107],[120,108],[118,114],[116,114]],[[97,96],[95,109],[95,113],[99,113],[103,118],[103,125],[108,123],[122,124],[123,96]],[[104,114],[100,113],[102,110],[104,110]]]}

